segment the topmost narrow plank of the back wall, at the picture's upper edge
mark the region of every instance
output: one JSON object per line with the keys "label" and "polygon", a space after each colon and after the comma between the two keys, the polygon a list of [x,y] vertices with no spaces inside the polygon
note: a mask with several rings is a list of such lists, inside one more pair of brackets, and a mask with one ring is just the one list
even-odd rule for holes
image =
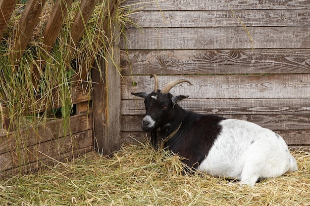
{"label": "topmost narrow plank of the back wall, at the picture's upper edge", "polygon": [[238,9],[307,9],[310,7],[309,0],[150,0],[122,1],[123,7],[130,10],[238,10]]}

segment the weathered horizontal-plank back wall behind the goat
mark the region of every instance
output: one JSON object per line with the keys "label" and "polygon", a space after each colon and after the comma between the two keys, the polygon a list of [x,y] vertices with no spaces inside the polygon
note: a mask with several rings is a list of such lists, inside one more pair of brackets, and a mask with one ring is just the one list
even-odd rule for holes
{"label": "weathered horizontal-plank back wall behind the goat", "polygon": [[[270,128],[291,146],[310,148],[309,0],[162,0],[132,5],[137,25],[121,40],[124,143],[143,141],[144,103],[151,92],[187,79],[170,92],[190,95],[185,109]],[[181,77],[182,76],[182,77]],[[134,83],[133,83],[134,82]],[[135,85],[135,86],[133,86]]]}

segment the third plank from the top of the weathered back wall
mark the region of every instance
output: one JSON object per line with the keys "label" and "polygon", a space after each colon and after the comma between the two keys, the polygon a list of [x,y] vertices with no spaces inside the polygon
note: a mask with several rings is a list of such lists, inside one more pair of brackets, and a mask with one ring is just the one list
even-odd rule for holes
{"label": "third plank from the top of the weathered back wall", "polygon": [[129,28],[120,48],[310,48],[310,27]]}

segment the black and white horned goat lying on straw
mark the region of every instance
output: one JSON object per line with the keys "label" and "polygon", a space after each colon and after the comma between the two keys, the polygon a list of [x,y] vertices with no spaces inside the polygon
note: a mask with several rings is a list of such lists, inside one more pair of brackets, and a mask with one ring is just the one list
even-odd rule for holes
{"label": "black and white horned goat lying on straw", "polygon": [[[207,174],[236,178],[254,186],[258,179],[297,170],[294,157],[282,137],[257,124],[202,115],[182,109],[177,102],[188,96],[173,96],[170,89],[187,80],[175,80],[158,90],[156,75],[152,93],[132,93],[145,99],[144,131],[158,143],[185,158],[186,165]],[[160,128],[157,135],[157,129]]]}

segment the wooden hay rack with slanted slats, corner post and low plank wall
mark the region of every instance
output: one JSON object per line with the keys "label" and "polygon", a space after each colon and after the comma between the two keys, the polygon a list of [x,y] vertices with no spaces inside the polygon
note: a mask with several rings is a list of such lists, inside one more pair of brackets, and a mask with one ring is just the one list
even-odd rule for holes
{"label": "wooden hay rack with slanted slats, corner post and low plank wall", "polygon": [[[17,0],[0,0],[0,41],[3,41],[2,35],[7,29],[7,22],[9,22],[13,10],[18,8],[18,2]],[[50,53],[52,51],[52,47],[63,26],[63,21],[68,15],[67,12],[72,6],[72,2],[73,0],[54,1],[51,16],[47,20],[43,31],[42,39],[44,41],[42,47],[47,47],[47,49],[43,50],[42,53]],[[110,26],[111,19],[116,13],[119,1],[79,0],[77,3],[79,3],[79,9],[75,13],[73,23],[70,25],[71,34],[69,43],[72,46],[72,50],[76,49],[79,45],[85,32],[85,24],[87,25],[95,6],[101,4],[105,5],[105,7],[103,10],[104,13],[100,16],[97,23],[97,28],[100,28],[98,29],[98,33],[99,30],[105,33],[111,41],[115,41],[113,48],[117,47],[117,37],[114,35],[118,34],[118,32],[109,34],[111,29],[108,26]],[[19,59],[24,54],[27,45],[31,43],[30,38],[38,19],[43,15],[42,11],[45,4],[47,4],[47,0],[26,1],[25,8],[18,22],[18,32],[16,32],[22,35],[16,37],[16,41],[12,42],[14,43],[12,45],[14,52],[11,52],[11,48],[3,48],[7,49],[8,55],[10,55],[10,52],[12,53],[16,65],[19,64]],[[104,39],[100,35],[95,35],[92,42],[93,46],[95,47],[96,44],[96,46],[106,49],[106,61],[101,59],[101,62],[99,60],[95,62],[98,53],[95,52],[93,56],[89,54],[91,56],[91,65],[94,65],[92,68],[93,90],[86,83],[89,82],[90,84],[90,80],[86,80],[86,73],[90,72],[91,68],[88,68],[86,63],[83,62],[84,64],[80,70],[76,71],[76,75],[72,78],[72,82],[70,82],[71,86],[69,87],[72,104],[76,111],[68,117],[66,129],[63,129],[63,119],[54,118],[47,121],[44,125],[32,125],[18,131],[7,130],[4,134],[0,134],[0,178],[7,174],[24,174],[29,171],[39,170],[45,165],[71,161],[76,157],[92,151],[94,148],[103,155],[108,155],[114,150],[119,149],[120,127],[119,124],[114,124],[120,122],[120,115],[118,115],[120,111],[120,91],[118,91],[120,90],[120,76],[114,65],[119,60],[119,52],[116,48],[112,52],[113,49],[107,48],[108,46],[103,45],[103,41],[99,41],[98,38]],[[68,54],[69,62],[74,58],[73,53],[70,53],[71,55]],[[112,60],[113,55],[116,56],[115,62]],[[44,68],[46,64],[45,58],[41,57],[38,61],[41,62],[40,66]],[[100,67],[98,67],[98,63],[101,65]],[[33,68],[33,84],[36,85],[37,80],[40,79],[40,74],[38,70],[35,71],[37,69],[36,67]],[[99,71],[100,69],[102,71]],[[105,82],[103,82],[102,73],[104,73]],[[111,93],[108,93],[108,91]],[[40,98],[41,95],[45,95],[44,93],[38,93],[36,95],[36,102],[31,105],[25,102],[25,105],[29,105],[29,113],[42,112],[46,109],[45,107],[49,109],[61,107],[59,103],[61,100],[59,99],[59,95],[55,95],[56,92],[57,89],[52,91],[52,96],[54,97],[54,105],[52,106],[43,102],[45,101],[44,98]],[[113,92],[118,94],[112,95]],[[114,104],[115,102],[118,105]],[[8,116],[6,114],[6,107],[2,108],[2,104],[0,106],[1,115]],[[1,120],[3,119],[4,117],[1,116]],[[2,122],[3,124],[5,124],[4,121]]]}

